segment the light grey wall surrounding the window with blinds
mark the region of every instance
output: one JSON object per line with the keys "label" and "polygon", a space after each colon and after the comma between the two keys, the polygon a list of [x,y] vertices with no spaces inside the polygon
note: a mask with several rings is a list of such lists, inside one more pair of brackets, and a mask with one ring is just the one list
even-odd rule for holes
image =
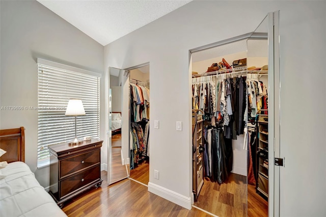
{"label": "light grey wall surrounding the window with blinds", "polygon": [[[0,5],[1,106],[37,106],[37,58],[103,73],[103,46],[40,3],[0,1]],[[100,86],[103,93],[103,78]],[[37,111],[1,110],[0,120],[1,129],[25,127],[25,162],[40,184],[48,186],[48,167],[37,169]]]}

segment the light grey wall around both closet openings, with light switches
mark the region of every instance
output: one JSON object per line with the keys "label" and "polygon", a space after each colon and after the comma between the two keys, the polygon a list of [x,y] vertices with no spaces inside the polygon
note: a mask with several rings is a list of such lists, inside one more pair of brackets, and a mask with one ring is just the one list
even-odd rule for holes
{"label": "light grey wall around both closet openings, with light switches", "polygon": [[150,127],[151,191],[184,206],[191,197],[188,50],[252,32],[281,10],[281,216],[326,214],[325,4],[194,1],[104,47],[105,67],[150,62],[150,120],[160,121],[159,129]]}

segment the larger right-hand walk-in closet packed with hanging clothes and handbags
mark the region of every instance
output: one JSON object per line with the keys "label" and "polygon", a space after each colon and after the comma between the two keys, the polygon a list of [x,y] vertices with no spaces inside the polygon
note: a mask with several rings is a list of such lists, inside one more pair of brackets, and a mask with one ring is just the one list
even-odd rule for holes
{"label": "larger right-hand walk-in closet packed with hanging clothes and handbags", "polygon": [[268,216],[267,43],[192,53],[193,205],[218,216]]}

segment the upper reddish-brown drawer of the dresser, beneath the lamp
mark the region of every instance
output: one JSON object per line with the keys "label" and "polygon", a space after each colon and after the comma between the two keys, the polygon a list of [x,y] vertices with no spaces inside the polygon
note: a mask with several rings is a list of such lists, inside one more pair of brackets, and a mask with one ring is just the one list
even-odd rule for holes
{"label": "upper reddish-brown drawer of the dresser, beneath the lamp", "polygon": [[100,149],[63,159],[59,165],[59,179],[100,162]]}

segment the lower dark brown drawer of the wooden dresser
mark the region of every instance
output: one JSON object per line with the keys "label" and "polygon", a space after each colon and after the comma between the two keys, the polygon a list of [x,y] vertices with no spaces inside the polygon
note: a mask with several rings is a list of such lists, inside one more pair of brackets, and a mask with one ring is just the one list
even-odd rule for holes
{"label": "lower dark brown drawer of the wooden dresser", "polygon": [[100,165],[59,181],[60,199],[97,179],[100,179]]}

